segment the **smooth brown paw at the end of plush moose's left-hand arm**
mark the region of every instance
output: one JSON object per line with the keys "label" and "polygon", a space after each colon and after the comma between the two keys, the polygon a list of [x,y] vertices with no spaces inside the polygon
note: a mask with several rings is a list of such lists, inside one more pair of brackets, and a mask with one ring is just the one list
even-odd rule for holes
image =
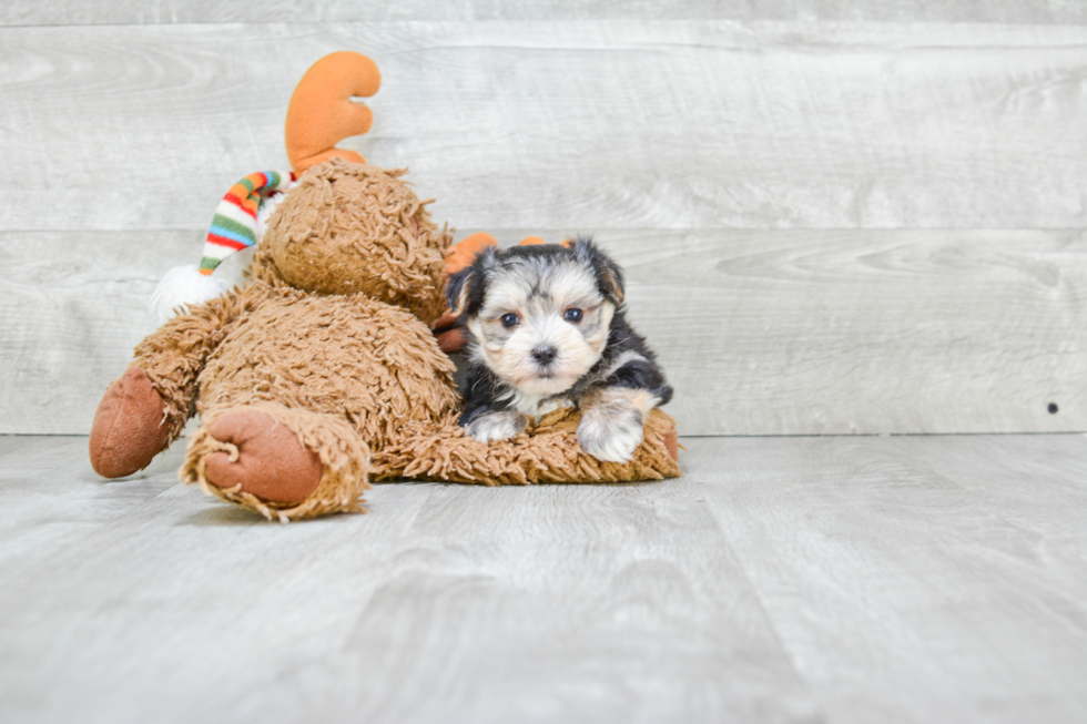
{"label": "smooth brown paw at the end of plush moose's left-hand arm", "polygon": [[129,367],[110,385],[91,426],[91,467],[104,478],[121,478],[143,470],[170,442],[165,404],[151,378]]}

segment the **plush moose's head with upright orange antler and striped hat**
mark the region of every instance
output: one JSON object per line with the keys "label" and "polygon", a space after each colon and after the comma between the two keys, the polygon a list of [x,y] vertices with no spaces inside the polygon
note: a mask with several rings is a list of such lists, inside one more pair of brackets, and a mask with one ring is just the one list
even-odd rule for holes
{"label": "plush moose's head with upright orange antler and striped hat", "polygon": [[[373,114],[354,99],[380,86],[370,59],[341,51],[321,59],[295,88],[286,145],[293,172],[250,174],[220,202],[199,266],[171,269],[152,297],[160,322],[230,290],[220,263],[256,245],[252,275],[314,294],[366,294],[433,324],[445,310],[438,230],[406,171],[368,165],[335,144],[365,133]],[[257,244],[260,242],[260,244]]]}

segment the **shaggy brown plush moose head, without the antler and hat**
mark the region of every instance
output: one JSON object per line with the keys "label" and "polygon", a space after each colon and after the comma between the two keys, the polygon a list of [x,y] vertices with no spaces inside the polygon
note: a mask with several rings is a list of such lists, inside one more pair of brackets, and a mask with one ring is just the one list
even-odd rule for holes
{"label": "shaggy brown plush moose head, without the antler and hat", "polygon": [[438,230],[405,171],[333,159],[283,197],[253,276],[315,294],[365,294],[433,324],[451,235]]}

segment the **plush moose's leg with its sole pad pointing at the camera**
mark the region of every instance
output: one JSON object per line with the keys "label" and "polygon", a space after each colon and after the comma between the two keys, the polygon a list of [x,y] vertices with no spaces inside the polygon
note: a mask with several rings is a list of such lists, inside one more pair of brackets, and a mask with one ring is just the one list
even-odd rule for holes
{"label": "plush moose's leg with its sole pad pointing at the camera", "polygon": [[275,402],[213,410],[181,479],[266,518],[365,512],[369,449],[346,419]]}

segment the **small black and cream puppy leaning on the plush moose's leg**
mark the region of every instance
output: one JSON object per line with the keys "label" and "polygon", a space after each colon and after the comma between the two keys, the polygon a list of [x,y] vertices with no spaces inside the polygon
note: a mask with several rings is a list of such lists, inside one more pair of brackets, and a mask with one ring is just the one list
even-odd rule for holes
{"label": "small black and cream puppy leaning on the plush moose's leg", "polygon": [[490,247],[449,278],[446,296],[469,332],[460,425],[477,440],[514,437],[527,416],[573,405],[581,449],[624,462],[646,416],[672,398],[623,318],[622,272],[590,238]]}

